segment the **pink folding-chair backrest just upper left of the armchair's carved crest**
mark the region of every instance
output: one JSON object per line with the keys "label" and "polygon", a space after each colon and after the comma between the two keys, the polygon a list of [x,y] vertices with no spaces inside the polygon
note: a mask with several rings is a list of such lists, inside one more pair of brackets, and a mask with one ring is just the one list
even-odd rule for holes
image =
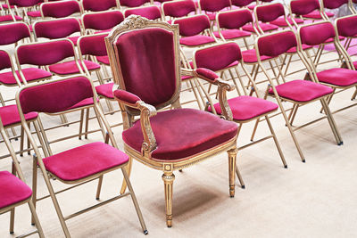
{"label": "pink folding-chair backrest just upper left of the armchair's carved crest", "polygon": [[83,25],[85,29],[104,30],[112,29],[124,21],[124,16],[120,11],[91,12],[83,15]]}

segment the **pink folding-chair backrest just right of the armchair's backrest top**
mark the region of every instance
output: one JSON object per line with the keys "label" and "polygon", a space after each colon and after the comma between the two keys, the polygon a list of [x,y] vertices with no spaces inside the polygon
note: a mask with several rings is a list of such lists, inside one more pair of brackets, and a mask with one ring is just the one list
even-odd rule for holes
{"label": "pink folding-chair backrest just right of the armchair's backrest top", "polygon": [[179,24],[179,35],[191,37],[200,34],[205,29],[210,29],[210,20],[206,15],[195,15],[177,19],[175,24]]}

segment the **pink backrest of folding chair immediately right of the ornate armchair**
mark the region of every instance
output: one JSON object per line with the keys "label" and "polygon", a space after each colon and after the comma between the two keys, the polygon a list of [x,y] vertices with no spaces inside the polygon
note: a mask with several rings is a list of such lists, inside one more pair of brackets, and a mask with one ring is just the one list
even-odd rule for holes
{"label": "pink backrest of folding chair immediately right of the ornate armchair", "polygon": [[206,68],[217,71],[223,70],[233,62],[240,61],[242,53],[235,42],[223,45],[214,45],[195,53],[195,63],[197,68]]}

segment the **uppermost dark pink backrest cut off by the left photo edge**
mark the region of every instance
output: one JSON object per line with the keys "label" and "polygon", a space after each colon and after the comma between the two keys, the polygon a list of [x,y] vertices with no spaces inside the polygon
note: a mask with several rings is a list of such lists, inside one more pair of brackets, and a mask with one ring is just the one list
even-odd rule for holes
{"label": "uppermost dark pink backrest cut off by the left photo edge", "polygon": [[29,27],[23,22],[0,25],[0,45],[14,44],[21,39],[28,38]]}

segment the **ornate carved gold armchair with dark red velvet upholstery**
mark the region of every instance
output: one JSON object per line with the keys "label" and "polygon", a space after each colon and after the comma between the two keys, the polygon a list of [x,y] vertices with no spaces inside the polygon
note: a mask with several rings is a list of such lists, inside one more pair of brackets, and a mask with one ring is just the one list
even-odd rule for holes
{"label": "ornate carved gold armchair with dark red velvet upholstery", "polygon": [[[211,70],[181,71],[178,25],[130,16],[112,30],[105,44],[114,89],[120,88],[113,94],[122,111],[125,151],[131,159],[163,171],[167,226],[172,226],[174,170],[227,151],[229,194],[233,197],[237,124],[205,111],[181,109],[179,92],[181,73],[219,86],[222,115],[231,120],[226,91],[234,86]],[[167,108],[171,110],[165,111]],[[125,189],[123,185],[121,192]]]}

